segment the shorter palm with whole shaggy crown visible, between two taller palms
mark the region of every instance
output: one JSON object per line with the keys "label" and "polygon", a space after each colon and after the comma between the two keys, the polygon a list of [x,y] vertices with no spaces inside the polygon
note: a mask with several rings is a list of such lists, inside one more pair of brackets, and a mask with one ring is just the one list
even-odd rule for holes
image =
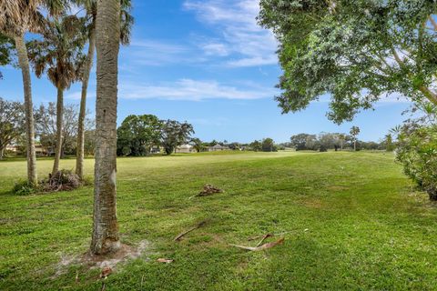
{"label": "shorter palm with whole shaggy crown visible, between two taller palms", "polygon": [[37,77],[47,73],[48,79],[56,86],[56,151],[52,174],[59,170],[62,153],[62,126],[64,91],[80,79],[81,66],[85,62],[82,48],[86,37],[82,33],[83,20],[76,16],[66,16],[61,20],[46,20],[41,33],[42,40],[28,43],[29,58]]}

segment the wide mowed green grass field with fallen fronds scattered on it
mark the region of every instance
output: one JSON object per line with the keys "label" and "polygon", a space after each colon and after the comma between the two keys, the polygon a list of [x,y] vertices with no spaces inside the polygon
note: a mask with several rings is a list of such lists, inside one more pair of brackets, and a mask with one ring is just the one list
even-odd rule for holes
{"label": "wide mowed green grass field with fallen fronds scattered on it", "polygon": [[[437,290],[437,206],[414,192],[393,158],[365,152],[120,158],[121,239],[132,246],[146,240],[147,247],[116,267],[106,290]],[[86,160],[89,176],[93,163]],[[51,166],[38,161],[40,176]],[[12,195],[24,177],[25,161],[0,163],[0,290],[100,290],[100,270],[74,263],[90,242],[92,186]],[[188,199],[207,183],[225,192]],[[205,219],[206,226],[173,241]],[[254,246],[249,237],[282,232],[284,244],[265,251],[229,246]],[[174,262],[158,263],[160,257]]]}

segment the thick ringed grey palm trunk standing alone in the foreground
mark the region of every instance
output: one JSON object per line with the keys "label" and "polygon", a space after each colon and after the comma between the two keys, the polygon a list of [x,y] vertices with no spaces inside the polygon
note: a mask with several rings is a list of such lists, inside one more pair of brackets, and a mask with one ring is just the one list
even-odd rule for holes
{"label": "thick ringed grey palm trunk standing alone in the foreground", "polygon": [[91,252],[106,255],[120,247],[116,200],[119,0],[97,0],[96,36],[96,164]]}

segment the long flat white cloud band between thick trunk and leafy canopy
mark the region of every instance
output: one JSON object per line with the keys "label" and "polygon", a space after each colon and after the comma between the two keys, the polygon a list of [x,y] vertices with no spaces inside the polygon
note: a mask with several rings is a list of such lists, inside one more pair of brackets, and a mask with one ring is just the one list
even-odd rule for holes
{"label": "long flat white cloud band between thick trunk and leafy canopy", "polygon": [[119,96],[125,99],[168,99],[191,100],[204,99],[259,99],[269,98],[276,90],[259,86],[222,85],[217,81],[197,81],[180,79],[175,83],[162,85],[137,85],[120,82]]}

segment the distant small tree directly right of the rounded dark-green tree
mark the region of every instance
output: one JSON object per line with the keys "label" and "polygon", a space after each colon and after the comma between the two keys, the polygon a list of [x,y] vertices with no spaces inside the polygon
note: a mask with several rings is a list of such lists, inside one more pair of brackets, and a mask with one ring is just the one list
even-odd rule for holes
{"label": "distant small tree directly right of the rounded dark-green tree", "polygon": [[194,134],[193,126],[187,122],[180,123],[176,120],[162,121],[161,145],[167,155],[171,155],[177,146],[187,142],[189,135]]}

